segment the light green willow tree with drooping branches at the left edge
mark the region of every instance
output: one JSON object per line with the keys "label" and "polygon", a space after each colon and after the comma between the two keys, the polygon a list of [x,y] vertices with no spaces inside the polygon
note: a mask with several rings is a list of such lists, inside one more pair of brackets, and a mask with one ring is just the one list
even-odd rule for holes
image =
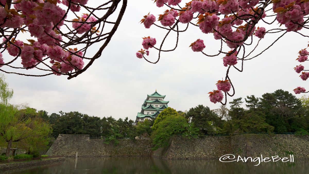
{"label": "light green willow tree with drooping branches at the left edge", "polygon": [[[50,131],[49,124],[32,113],[21,110],[24,106],[8,103],[13,96],[13,90],[8,88],[5,78],[0,75],[0,138],[7,142],[6,156],[9,156],[13,142],[29,137],[42,137]],[[26,108],[27,110],[27,108]]]}

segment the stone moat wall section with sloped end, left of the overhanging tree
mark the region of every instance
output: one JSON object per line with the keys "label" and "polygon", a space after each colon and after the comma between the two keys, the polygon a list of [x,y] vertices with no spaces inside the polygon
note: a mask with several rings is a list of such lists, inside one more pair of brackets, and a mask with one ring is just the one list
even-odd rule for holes
{"label": "stone moat wall section with sloped end, left of the overhanging tree", "polygon": [[90,139],[89,135],[60,134],[47,151],[47,155],[74,156],[151,156],[151,141],[119,139],[116,146],[103,139]]}

